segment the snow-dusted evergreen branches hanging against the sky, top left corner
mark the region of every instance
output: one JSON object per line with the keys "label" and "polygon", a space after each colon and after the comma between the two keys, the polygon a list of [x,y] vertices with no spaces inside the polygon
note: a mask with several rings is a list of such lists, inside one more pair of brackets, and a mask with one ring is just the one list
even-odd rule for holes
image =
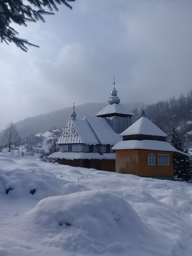
{"label": "snow-dusted evergreen branches hanging against the sky, top left corner", "polygon": [[[0,39],[1,42],[9,44],[13,42],[24,52],[27,52],[25,44],[31,44],[26,39],[18,38],[18,32],[10,26],[12,22],[27,26],[27,22],[38,22],[41,20],[45,22],[43,15],[54,15],[53,9],[58,11],[56,4],[64,4],[72,9],[67,2],[74,2],[75,0],[0,0]],[[30,5],[28,5],[30,4]],[[48,8],[47,12],[43,8]]]}

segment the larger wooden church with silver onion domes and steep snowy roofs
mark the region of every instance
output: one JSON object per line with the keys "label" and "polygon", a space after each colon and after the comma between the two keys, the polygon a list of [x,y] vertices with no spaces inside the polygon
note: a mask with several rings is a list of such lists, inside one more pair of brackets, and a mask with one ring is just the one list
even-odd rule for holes
{"label": "larger wooden church with silver onion domes and steep snowy roofs", "polygon": [[108,103],[94,116],[83,119],[77,119],[73,109],[58,140],[59,151],[48,157],[58,158],[60,164],[115,172],[112,147],[122,140],[120,133],[131,126],[134,114],[120,104],[115,82]]}

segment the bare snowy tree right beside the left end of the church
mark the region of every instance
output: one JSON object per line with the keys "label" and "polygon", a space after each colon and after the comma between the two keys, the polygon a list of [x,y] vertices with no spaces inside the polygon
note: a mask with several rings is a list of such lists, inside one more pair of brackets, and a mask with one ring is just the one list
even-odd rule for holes
{"label": "bare snowy tree right beside the left end of the church", "polygon": [[56,143],[59,137],[60,137],[60,130],[58,130],[56,126],[53,126],[50,130],[50,136],[47,140],[47,148],[50,154],[58,151],[58,144]]}

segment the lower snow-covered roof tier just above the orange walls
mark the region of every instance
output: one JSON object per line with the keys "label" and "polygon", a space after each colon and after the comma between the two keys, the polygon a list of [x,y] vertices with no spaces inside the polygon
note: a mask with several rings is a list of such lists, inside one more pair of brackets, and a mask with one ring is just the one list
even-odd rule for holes
{"label": "lower snow-covered roof tier just above the orange walls", "polygon": [[118,142],[112,147],[112,150],[124,150],[124,149],[146,149],[157,151],[169,151],[176,152],[185,156],[190,156],[184,152],[181,152],[174,148],[171,144],[165,141],[159,140],[124,140]]}

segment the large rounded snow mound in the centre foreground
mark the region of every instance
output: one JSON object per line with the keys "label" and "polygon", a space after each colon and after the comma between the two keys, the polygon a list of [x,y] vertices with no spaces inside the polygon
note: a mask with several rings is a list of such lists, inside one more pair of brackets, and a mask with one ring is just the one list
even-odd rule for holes
{"label": "large rounded snow mound in the centre foreground", "polygon": [[51,244],[70,252],[93,255],[114,250],[116,254],[130,243],[143,244],[150,237],[130,204],[104,191],[45,198],[23,217],[22,226],[32,226],[31,235],[41,237],[44,246]]}

